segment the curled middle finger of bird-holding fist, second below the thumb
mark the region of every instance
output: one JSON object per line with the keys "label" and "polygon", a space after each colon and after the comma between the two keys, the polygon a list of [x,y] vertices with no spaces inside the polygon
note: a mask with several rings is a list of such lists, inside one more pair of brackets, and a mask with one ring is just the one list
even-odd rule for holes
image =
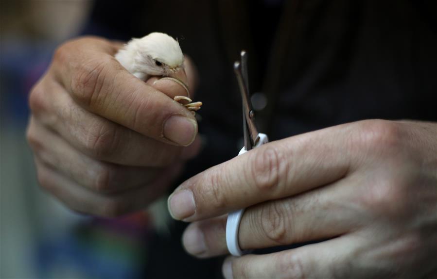
{"label": "curled middle finger of bird-holding fist, second below the thumb", "polygon": [[37,156],[78,184],[97,192],[117,192],[146,185],[157,168],[133,167],[94,160],[31,118],[28,138]]}

